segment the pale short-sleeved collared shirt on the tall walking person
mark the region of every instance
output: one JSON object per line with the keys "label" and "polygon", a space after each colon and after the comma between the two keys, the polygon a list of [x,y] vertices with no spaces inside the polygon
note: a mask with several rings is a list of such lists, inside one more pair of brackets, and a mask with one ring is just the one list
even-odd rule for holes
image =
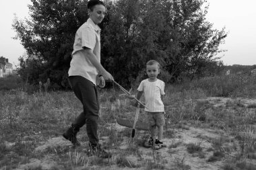
{"label": "pale short-sleeved collared shirt on the tall walking person", "polygon": [[100,62],[100,28],[90,18],[75,34],[69,76],[79,75],[96,85],[98,70],[87,58],[83,47],[92,49],[96,59]]}

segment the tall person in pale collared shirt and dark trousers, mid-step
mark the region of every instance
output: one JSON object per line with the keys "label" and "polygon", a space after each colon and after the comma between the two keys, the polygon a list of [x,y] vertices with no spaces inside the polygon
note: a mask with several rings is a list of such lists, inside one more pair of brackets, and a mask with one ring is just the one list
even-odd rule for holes
{"label": "tall person in pale collared shirt and dark trousers, mid-step", "polygon": [[[100,28],[106,9],[102,1],[88,1],[89,18],[77,30],[73,44],[72,60],[69,68],[69,83],[75,96],[82,102],[83,112],[63,134],[73,145],[79,146],[76,135],[79,129],[86,124],[89,138],[90,155],[111,157],[106,153],[98,139],[98,112],[99,100],[97,83],[104,86],[105,80],[112,81],[113,76],[100,64]],[[97,83],[96,83],[97,82]]]}

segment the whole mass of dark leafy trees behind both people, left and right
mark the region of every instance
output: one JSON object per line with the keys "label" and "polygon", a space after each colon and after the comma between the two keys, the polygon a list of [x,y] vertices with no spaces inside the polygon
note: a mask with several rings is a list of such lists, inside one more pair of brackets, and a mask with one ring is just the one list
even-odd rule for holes
{"label": "whole mass of dark leafy trees behind both people, left and right", "polygon": [[[176,81],[182,74],[189,79],[211,75],[220,66],[216,54],[227,34],[206,21],[206,0],[104,2],[102,65],[122,85],[131,85],[150,59],[160,62],[166,81]],[[30,18],[15,18],[16,38],[28,53],[20,58],[23,79],[38,83],[50,78],[59,87],[68,87],[73,38],[88,18],[86,4],[32,0]]]}

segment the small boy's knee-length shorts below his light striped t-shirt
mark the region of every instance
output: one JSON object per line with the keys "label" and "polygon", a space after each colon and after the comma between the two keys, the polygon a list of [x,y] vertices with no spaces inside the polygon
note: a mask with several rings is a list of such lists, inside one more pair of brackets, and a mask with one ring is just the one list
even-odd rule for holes
{"label": "small boy's knee-length shorts below his light striped t-shirt", "polygon": [[164,112],[147,112],[150,126],[164,126]]}

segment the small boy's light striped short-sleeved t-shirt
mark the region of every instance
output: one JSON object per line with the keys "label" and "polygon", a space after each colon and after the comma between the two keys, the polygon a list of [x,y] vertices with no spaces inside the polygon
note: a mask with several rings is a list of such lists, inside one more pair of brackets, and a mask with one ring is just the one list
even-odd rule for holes
{"label": "small boy's light striped short-sleeved t-shirt", "polygon": [[154,82],[148,81],[145,79],[141,81],[138,91],[143,91],[146,107],[145,111],[147,112],[164,112],[164,103],[162,102],[161,95],[164,93],[164,81],[157,79]]}

